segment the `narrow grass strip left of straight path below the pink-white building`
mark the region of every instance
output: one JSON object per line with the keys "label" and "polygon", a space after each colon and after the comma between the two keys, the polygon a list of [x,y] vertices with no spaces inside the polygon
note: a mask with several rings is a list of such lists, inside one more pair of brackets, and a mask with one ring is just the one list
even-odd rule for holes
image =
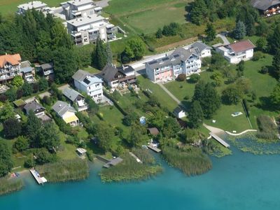
{"label": "narrow grass strip left of straight path below the pink-white building", "polygon": [[169,97],[169,95],[164,90],[162,90],[160,85],[152,83],[151,80],[149,80],[148,78],[144,78],[143,76],[138,76],[137,79],[140,82],[140,87],[143,90],[151,90],[155,97],[157,97],[160,101],[160,104],[167,107],[169,111],[173,111],[176,106],[178,106],[178,104],[171,97]]}

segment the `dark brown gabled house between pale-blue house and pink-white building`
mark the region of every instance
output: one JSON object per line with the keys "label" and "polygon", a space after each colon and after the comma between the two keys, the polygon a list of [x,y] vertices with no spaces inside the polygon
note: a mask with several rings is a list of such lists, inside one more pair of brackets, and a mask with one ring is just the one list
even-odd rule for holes
{"label": "dark brown gabled house between pale-blue house and pink-white building", "polygon": [[137,78],[132,66],[116,67],[113,64],[106,64],[101,73],[98,74],[109,87],[118,87],[119,85],[129,85],[135,83]]}

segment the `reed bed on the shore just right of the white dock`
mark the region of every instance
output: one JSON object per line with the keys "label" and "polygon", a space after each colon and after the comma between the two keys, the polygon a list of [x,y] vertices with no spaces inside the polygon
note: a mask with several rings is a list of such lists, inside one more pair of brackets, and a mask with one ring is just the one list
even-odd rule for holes
{"label": "reed bed on the shore just right of the white dock", "polygon": [[36,167],[42,176],[50,182],[76,181],[86,179],[90,169],[85,160],[60,160],[59,162]]}

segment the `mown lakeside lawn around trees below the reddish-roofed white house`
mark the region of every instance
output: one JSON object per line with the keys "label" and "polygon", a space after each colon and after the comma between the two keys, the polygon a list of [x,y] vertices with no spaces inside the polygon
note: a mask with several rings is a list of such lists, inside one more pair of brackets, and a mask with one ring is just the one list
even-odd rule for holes
{"label": "mown lakeside lawn around trees below the reddish-roofed white house", "polygon": [[[253,38],[248,37],[253,42],[258,40],[257,36]],[[272,55],[265,54],[265,58],[259,59],[258,61],[247,61],[245,62],[245,70],[244,77],[251,80],[251,90],[255,92],[258,99],[256,102],[251,102],[251,99],[248,99],[249,109],[250,109],[250,121],[253,126],[253,129],[258,129],[258,125],[256,123],[256,118],[261,114],[265,114],[268,116],[276,116],[279,113],[275,111],[271,111],[269,107],[261,107],[256,106],[265,100],[268,100],[270,93],[272,92],[274,86],[277,81],[275,78],[267,74],[259,73],[258,71],[262,68],[262,66],[271,66],[272,65]],[[235,71],[235,65],[231,66],[232,71]],[[200,73],[201,79],[205,82],[212,82],[211,80],[212,72],[204,71]],[[178,82],[172,81],[170,83],[165,84],[165,87],[172,92],[178,99],[182,100],[183,104],[188,107],[190,104],[191,98],[193,97],[193,92],[195,90],[195,84],[187,83],[186,81]],[[221,92],[227,87],[225,83],[223,83],[220,87],[217,87],[218,92]],[[185,97],[188,97],[188,100],[185,100]],[[237,111],[241,111],[244,113],[244,109],[241,103],[231,106],[227,106],[222,104],[221,108],[218,109],[216,114],[210,119],[205,120],[204,122],[208,125],[214,127],[220,127],[223,130],[228,130],[232,132],[236,130],[237,132],[242,132],[247,129],[251,129],[251,126],[246,119],[245,113],[241,116],[237,116],[233,118],[231,116],[232,113]],[[216,123],[212,123],[212,120],[216,120]]]}

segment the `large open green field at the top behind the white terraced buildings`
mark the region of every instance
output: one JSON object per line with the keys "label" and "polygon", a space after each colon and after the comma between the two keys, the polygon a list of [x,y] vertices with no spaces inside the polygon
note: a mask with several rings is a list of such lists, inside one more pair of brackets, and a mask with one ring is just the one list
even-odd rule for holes
{"label": "large open green field at the top behind the white terraced buildings", "polygon": [[170,22],[186,23],[188,2],[190,0],[112,0],[104,10],[129,25],[134,33],[149,34]]}

